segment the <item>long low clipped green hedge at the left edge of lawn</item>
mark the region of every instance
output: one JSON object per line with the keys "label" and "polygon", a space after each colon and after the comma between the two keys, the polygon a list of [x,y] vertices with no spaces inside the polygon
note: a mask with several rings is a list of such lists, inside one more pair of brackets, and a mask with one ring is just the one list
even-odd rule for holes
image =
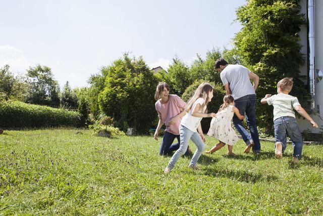
{"label": "long low clipped green hedge at the left edge of lawn", "polygon": [[82,126],[75,111],[8,101],[0,104],[0,127]]}

